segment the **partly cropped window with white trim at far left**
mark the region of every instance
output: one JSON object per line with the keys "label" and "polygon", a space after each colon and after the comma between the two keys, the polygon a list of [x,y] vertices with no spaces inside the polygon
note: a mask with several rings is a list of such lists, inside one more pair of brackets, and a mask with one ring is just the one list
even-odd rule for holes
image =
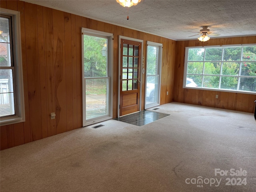
{"label": "partly cropped window with white trim at far left", "polygon": [[20,13],[0,10],[0,124],[25,121]]}

